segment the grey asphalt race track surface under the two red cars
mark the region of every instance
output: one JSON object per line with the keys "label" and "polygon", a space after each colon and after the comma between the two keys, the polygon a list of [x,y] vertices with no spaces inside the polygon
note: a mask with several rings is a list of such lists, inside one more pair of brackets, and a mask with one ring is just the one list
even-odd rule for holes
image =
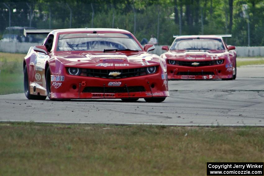
{"label": "grey asphalt race track surface under the two red cars", "polygon": [[169,81],[162,103],[28,100],[0,96],[0,121],[48,123],[264,126],[264,65],[240,67],[236,80]]}

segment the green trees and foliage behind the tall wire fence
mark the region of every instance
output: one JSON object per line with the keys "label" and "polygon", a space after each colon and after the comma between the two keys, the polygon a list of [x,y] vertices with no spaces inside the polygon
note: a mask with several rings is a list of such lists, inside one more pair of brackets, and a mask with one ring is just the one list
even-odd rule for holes
{"label": "green trees and foliage behind the tall wire fence", "polygon": [[162,45],[170,45],[173,34],[228,33],[233,35],[228,44],[248,46],[249,24],[250,46],[264,45],[263,0],[4,0],[0,34],[9,26],[4,3],[11,9],[11,26],[31,21],[37,29],[118,27],[139,41],[154,34]]}

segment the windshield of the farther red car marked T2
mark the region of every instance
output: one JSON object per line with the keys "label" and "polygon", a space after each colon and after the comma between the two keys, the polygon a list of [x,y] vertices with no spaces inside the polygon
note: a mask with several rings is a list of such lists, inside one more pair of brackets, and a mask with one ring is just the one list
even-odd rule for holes
{"label": "windshield of the farther red car marked T2", "polygon": [[224,50],[221,39],[186,38],[176,39],[171,50]]}

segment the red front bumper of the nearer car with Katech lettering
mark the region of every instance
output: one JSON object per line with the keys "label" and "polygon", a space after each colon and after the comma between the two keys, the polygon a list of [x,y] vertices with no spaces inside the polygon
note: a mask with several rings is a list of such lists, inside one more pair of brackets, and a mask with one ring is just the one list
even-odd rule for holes
{"label": "red front bumper of the nearer car with Katech lettering", "polygon": [[167,79],[164,75],[162,77],[160,72],[121,79],[67,74],[64,81],[52,81],[51,85],[53,84],[57,87],[51,86],[50,97],[52,99],[115,99],[169,96]]}

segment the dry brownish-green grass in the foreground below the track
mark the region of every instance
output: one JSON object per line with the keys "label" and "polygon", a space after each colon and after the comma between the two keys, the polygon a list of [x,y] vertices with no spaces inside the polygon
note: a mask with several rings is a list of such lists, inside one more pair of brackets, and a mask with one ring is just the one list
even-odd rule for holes
{"label": "dry brownish-green grass in the foreground below the track", "polygon": [[264,128],[0,124],[0,175],[206,175],[263,162]]}

